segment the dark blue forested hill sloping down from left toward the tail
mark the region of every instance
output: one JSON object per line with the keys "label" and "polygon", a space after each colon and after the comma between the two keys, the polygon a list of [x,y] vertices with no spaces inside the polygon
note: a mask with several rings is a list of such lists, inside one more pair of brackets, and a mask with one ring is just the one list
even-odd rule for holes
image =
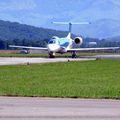
{"label": "dark blue forested hill sloping down from left toward the tail", "polygon": [[67,32],[64,31],[39,28],[30,25],[20,24],[17,22],[0,20],[0,39],[4,41],[14,39],[27,39],[37,41],[50,39],[54,35],[63,37],[66,34]]}

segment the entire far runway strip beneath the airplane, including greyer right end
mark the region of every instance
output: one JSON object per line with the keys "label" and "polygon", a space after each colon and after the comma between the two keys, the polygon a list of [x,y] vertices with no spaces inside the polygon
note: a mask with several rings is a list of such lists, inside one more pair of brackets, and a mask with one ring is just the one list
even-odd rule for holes
{"label": "entire far runway strip beneath the airplane, including greyer right end", "polygon": [[29,58],[29,57],[0,57],[0,65],[17,65],[17,64],[36,64],[68,61],[89,61],[100,59],[120,59],[120,55],[96,55],[80,56],[78,58]]}

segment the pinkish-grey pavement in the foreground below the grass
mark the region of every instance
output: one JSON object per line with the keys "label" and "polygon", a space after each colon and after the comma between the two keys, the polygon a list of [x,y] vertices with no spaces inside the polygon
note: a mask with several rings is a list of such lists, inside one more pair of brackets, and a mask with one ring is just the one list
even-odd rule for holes
{"label": "pinkish-grey pavement in the foreground below the grass", "polygon": [[120,120],[120,101],[0,97],[0,120]]}

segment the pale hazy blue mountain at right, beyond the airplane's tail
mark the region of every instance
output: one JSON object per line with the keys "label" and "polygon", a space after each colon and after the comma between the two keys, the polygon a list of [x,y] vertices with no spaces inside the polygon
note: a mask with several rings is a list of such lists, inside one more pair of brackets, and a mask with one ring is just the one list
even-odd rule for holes
{"label": "pale hazy blue mountain at right, beyond the airplane's tail", "polygon": [[[89,28],[89,29],[88,29]],[[76,31],[78,31],[76,29]],[[113,19],[100,19],[92,22],[92,24],[88,26],[81,26],[79,30],[81,34],[95,38],[108,38],[112,36],[119,36],[120,33],[120,23],[119,20]]]}

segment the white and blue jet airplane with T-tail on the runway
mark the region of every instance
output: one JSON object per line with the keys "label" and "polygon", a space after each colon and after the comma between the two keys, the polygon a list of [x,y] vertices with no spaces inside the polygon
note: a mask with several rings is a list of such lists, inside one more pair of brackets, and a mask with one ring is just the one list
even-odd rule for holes
{"label": "white and blue jet airplane with T-tail on the runway", "polygon": [[49,41],[46,48],[43,47],[28,47],[28,46],[15,46],[10,45],[9,47],[12,48],[22,48],[22,49],[33,49],[33,50],[45,50],[48,51],[49,58],[54,58],[55,53],[72,53],[72,58],[76,57],[76,52],[78,51],[92,51],[92,50],[116,50],[119,49],[119,47],[103,47],[103,48],[72,48],[73,44],[76,45],[82,45],[83,38],[82,37],[75,37],[74,39],[71,38],[71,30],[72,25],[78,25],[78,24],[91,24],[90,22],[80,22],[80,23],[74,23],[74,22],[53,22],[54,24],[63,24],[69,25],[69,32],[66,37],[59,38],[57,36],[53,36]]}

